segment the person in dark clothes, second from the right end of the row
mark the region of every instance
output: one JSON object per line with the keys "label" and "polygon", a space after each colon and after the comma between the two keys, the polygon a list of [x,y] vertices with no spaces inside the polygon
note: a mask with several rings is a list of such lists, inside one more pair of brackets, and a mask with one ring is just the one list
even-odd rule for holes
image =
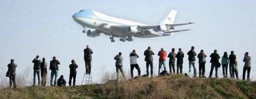
{"label": "person in dark clothes, second from the right end of the row", "polygon": [[237,59],[237,56],[234,55],[234,51],[231,51],[231,54],[229,55],[230,78],[234,78],[234,67],[236,67],[236,59]]}

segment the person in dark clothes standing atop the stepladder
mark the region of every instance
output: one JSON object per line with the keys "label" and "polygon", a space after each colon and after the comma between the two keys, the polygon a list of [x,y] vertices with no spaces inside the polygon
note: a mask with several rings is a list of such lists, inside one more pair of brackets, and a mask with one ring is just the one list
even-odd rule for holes
{"label": "person in dark clothes standing atop the stepladder", "polygon": [[91,74],[91,66],[92,66],[92,54],[93,51],[91,50],[90,45],[86,46],[86,49],[83,50],[84,53],[84,62],[86,63],[86,74]]}

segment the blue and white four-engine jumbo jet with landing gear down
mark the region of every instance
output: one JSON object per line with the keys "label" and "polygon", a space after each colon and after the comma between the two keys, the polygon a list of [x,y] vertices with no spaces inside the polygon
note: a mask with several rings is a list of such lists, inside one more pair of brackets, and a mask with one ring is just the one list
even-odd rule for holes
{"label": "blue and white four-engine jumbo jet with landing gear down", "polygon": [[[101,33],[110,36],[111,42],[115,42],[114,37],[120,38],[122,42],[133,41],[132,37],[150,38],[160,36],[170,36],[175,32],[188,31],[174,30],[176,26],[188,23],[174,24],[177,11],[171,10],[156,25],[148,25],[130,20],[111,17],[93,10],[81,10],[75,13],[72,18],[83,27],[83,33],[89,37],[99,36]],[[92,30],[87,30],[90,28]]]}

